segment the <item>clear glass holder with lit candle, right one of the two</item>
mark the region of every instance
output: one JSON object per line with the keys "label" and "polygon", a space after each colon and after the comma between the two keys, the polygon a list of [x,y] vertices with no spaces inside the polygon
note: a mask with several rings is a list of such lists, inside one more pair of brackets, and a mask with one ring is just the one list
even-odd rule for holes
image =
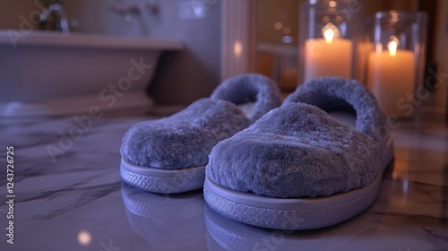
{"label": "clear glass holder with lit candle, right one of the two", "polygon": [[388,116],[413,117],[415,93],[423,87],[425,13],[376,13],[370,22],[366,84]]}

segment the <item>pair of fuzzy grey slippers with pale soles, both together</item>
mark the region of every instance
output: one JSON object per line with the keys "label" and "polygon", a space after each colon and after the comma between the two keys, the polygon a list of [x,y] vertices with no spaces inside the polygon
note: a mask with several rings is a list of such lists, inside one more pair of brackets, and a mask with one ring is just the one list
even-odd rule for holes
{"label": "pair of fuzzy grey slippers with pale soles, both together", "polygon": [[271,229],[317,229],[375,201],[393,157],[385,117],[361,83],[306,82],[281,104],[260,74],[222,82],[210,99],[134,125],[121,176],[143,190],[203,187],[212,210]]}

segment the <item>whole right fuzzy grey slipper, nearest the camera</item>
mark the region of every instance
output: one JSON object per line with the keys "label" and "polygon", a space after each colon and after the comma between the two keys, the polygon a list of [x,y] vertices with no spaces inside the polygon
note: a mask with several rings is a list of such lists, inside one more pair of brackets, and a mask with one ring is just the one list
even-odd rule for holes
{"label": "whole right fuzzy grey slipper, nearest the camera", "polygon": [[205,201],[230,219],[271,229],[348,220],[375,201],[392,160],[384,122],[361,83],[306,82],[280,108],[212,149]]}

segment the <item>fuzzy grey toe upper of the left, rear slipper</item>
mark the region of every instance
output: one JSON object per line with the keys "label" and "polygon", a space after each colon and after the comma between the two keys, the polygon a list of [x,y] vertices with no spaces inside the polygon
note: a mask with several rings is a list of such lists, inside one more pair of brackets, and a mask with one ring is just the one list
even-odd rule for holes
{"label": "fuzzy grey toe upper of the left, rear slipper", "polygon": [[155,169],[205,165],[211,148],[250,125],[234,104],[202,99],[167,118],[134,125],[125,134],[121,153],[130,162]]}

